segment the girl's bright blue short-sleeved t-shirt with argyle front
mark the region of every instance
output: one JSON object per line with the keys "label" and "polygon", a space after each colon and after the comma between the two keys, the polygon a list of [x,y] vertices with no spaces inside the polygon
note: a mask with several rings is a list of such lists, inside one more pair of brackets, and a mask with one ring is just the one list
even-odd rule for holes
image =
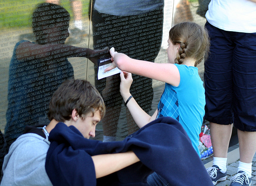
{"label": "girl's bright blue short-sleeved t-shirt with argyle front", "polygon": [[175,65],[180,72],[180,84],[179,86],[165,84],[156,118],[170,116],[178,120],[200,155],[198,141],[205,106],[203,82],[198,75],[198,68]]}

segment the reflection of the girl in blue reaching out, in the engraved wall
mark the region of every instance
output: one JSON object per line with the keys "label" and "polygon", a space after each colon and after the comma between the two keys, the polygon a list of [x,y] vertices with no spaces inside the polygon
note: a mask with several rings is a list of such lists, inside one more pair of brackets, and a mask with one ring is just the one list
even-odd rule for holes
{"label": "reflection of the girl in blue reaching out, in the engraved wall", "polygon": [[74,78],[67,58],[88,57],[94,61],[95,54],[102,52],[65,45],[69,20],[70,14],[61,6],[39,4],[32,18],[36,42],[22,40],[14,47],[5,126],[8,147],[23,133],[25,125],[49,122],[46,115],[52,94],[64,80]]}

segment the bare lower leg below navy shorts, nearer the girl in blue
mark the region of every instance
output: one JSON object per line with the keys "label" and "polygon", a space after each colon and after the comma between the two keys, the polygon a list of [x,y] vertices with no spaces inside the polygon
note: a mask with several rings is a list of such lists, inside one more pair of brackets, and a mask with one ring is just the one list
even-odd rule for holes
{"label": "bare lower leg below navy shorts, nearer the girl in blue", "polygon": [[232,127],[232,124],[220,125],[210,122],[210,134],[214,157],[227,158]]}

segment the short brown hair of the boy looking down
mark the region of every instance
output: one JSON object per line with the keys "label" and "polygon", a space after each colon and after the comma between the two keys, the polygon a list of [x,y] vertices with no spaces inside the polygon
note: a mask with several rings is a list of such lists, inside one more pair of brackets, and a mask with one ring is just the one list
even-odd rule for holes
{"label": "short brown hair of the boy looking down", "polygon": [[105,115],[104,101],[96,88],[86,80],[76,79],[63,82],[53,94],[49,104],[48,118],[59,122],[70,120],[72,110],[76,109],[83,119],[92,112]]}

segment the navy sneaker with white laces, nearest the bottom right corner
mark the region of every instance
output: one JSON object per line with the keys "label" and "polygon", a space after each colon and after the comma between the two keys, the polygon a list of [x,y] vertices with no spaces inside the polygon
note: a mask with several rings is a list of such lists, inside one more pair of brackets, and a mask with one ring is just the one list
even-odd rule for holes
{"label": "navy sneaker with white laces, nearest the bottom right corner", "polygon": [[250,186],[252,184],[251,178],[248,178],[248,175],[242,170],[238,171],[230,180],[230,186]]}

